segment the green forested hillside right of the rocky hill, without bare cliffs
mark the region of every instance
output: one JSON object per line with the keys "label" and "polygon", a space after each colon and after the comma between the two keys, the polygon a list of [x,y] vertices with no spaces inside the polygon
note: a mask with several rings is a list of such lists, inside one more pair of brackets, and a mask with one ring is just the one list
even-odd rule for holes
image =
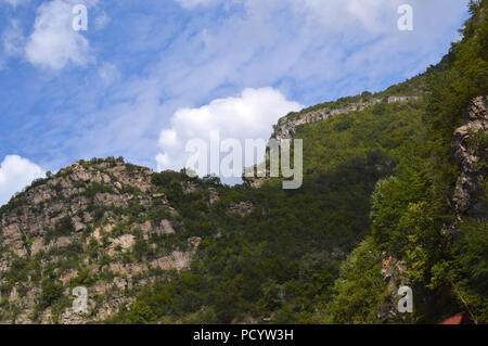
{"label": "green forested hillside right of the rocky hill, without bare cliffs", "polygon": [[[465,311],[473,322],[487,322],[486,127],[468,139],[483,190],[473,196],[480,201],[476,217],[458,213],[452,202],[460,175],[453,132],[470,102],[488,91],[487,1],[472,2],[470,11],[463,40],[439,65],[385,92],[423,99],[299,128],[300,190],[282,191],[273,181],[256,191],[223,189],[222,202],[252,201],[254,214],[220,219],[220,238],[185,277],[194,285],[172,281],[149,290],[140,310],[154,321],[435,323]],[[412,316],[394,310],[400,283],[413,289]],[[174,309],[185,294],[182,302],[202,300]],[[136,310],[123,317],[141,321]]]}

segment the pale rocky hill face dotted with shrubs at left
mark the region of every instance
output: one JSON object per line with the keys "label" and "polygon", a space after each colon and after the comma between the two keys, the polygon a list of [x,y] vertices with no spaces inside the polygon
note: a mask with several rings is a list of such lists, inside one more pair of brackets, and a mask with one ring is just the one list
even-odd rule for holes
{"label": "pale rocky hill face dotted with shrubs at left", "polygon": [[[123,159],[81,161],[1,207],[0,323],[103,322],[165,271],[189,268],[202,240],[172,242],[179,214],[153,174]],[[75,286],[87,289],[88,313],[72,308]]]}

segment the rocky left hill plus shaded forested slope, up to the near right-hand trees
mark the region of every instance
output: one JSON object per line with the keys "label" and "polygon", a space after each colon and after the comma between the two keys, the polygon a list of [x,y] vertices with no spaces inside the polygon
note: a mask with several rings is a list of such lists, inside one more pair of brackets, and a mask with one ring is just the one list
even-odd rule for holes
{"label": "rocky left hill plus shaded forested slope, up to the near right-hand trees", "polygon": [[[414,140],[421,108],[381,104],[297,131],[309,153],[297,191],[113,158],[36,181],[0,212],[1,320],[311,321],[369,234],[370,194]],[[88,315],[70,309],[76,286]]]}

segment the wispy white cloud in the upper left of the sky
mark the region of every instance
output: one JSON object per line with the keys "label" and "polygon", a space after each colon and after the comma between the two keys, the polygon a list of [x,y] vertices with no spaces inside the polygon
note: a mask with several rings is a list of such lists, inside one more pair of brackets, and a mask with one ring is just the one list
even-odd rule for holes
{"label": "wispy white cloud in the upper left of the sky", "polygon": [[[86,2],[86,5],[95,2]],[[31,64],[59,71],[68,63],[85,66],[94,60],[82,31],[76,31],[72,26],[73,7],[78,3],[78,0],[53,0],[37,9],[34,33],[25,47]]]}

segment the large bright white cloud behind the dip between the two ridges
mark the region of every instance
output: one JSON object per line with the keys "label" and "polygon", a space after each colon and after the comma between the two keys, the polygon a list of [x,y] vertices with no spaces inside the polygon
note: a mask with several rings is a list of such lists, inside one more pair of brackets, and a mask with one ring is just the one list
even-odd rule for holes
{"label": "large bright white cloud behind the dip between the two ridges", "polygon": [[218,131],[221,141],[235,139],[243,148],[246,139],[266,141],[279,117],[300,107],[280,91],[261,88],[245,89],[239,97],[217,99],[198,108],[178,110],[171,127],[159,136],[158,169],[185,167],[192,155],[185,153],[187,143],[203,140],[209,149],[213,131]]}

